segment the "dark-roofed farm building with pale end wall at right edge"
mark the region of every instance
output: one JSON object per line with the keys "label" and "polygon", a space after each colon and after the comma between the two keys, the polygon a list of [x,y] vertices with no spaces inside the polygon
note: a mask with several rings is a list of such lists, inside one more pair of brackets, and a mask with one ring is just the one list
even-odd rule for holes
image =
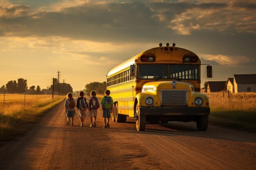
{"label": "dark-roofed farm building with pale end wall at right edge", "polygon": [[234,93],[256,92],[256,74],[235,74]]}

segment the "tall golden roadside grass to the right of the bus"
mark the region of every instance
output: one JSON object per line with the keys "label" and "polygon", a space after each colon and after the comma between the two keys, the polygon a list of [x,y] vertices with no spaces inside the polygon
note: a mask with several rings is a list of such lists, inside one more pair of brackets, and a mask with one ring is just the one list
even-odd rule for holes
{"label": "tall golden roadside grass to the right of the bus", "polygon": [[256,93],[207,93],[213,124],[256,132]]}

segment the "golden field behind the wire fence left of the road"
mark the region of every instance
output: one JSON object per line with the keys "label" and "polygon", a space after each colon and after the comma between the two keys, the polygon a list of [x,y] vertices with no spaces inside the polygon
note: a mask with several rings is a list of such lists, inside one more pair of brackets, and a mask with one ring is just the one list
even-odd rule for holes
{"label": "golden field behind the wire fence left of the road", "polygon": [[54,92],[54,95],[44,94],[0,94],[0,114],[9,114],[22,108],[28,108],[34,104],[41,102],[47,102],[59,97],[58,92]]}

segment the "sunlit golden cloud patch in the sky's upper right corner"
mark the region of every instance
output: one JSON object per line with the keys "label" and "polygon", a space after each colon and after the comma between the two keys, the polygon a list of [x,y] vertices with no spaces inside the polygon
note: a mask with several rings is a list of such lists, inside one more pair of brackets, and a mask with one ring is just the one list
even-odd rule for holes
{"label": "sunlit golden cloud patch in the sky's upper right corner", "polygon": [[191,35],[195,29],[256,33],[256,2],[252,0],[153,1],[148,6],[159,20],[181,35]]}

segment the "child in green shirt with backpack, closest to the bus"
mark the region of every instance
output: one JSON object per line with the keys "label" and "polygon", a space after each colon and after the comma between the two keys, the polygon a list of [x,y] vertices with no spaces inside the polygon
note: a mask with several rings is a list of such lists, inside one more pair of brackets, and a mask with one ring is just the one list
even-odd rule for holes
{"label": "child in green shirt with backpack, closest to the bus", "polygon": [[102,110],[103,110],[103,117],[104,117],[104,124],[105,126],[103,128],[109,128],[109,120],[112,112],[112,106],[113,106],[113,99],[110,97],[110,91],[106,90],[105,95],[101,99],[101,105],[102,105]]}

